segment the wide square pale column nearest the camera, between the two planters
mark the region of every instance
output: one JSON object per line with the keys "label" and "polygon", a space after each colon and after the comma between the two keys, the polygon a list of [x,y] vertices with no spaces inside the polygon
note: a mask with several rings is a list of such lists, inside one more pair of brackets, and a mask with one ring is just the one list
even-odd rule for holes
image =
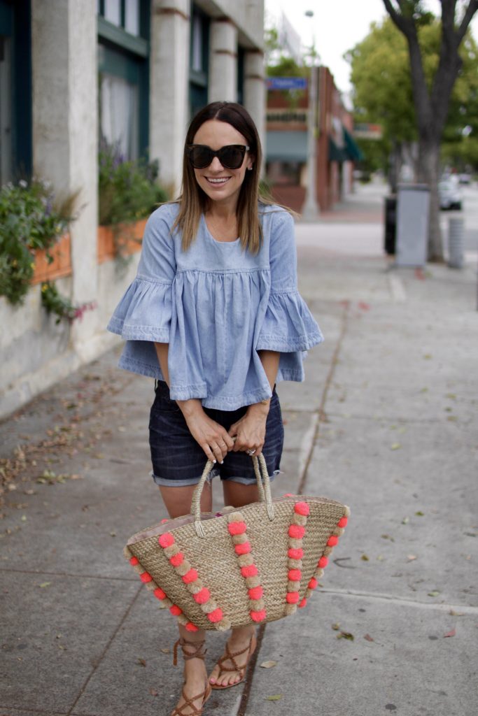
{"label": "wide square pale column nearest the camera, between the two planters", "polygon": [[[96,11],[96,0],[32,2],[34,174],[59,196],[79,193],[70,227],[75,304],[97,296]],[[96,324],[95,311],[75,321],[76,349]]]}

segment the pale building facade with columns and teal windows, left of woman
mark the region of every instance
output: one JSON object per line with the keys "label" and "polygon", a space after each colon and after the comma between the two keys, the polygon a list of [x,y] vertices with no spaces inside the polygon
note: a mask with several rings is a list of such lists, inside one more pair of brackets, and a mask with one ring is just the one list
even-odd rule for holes
{"label": "pale building facade with columns and teal windows, left of woman", "polygon": [[105,324],[135,274],[97,261],[98,147],[158,160],[180,190],[193,114],[215,100],[247,107],[264,137],[264,0],[0,0],[0,184],[34,175],[78,193],[70,228],[74,304],[56,326],[39,286],[24,306],[0,296],[0,416],[113,345]]}

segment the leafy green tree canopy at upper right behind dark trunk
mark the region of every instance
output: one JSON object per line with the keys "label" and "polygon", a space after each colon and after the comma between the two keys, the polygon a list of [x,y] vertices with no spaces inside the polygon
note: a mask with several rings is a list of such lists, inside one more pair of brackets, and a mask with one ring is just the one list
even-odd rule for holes
{"label": "leafy green tree canopy at upper right behind dark trunk", "polygon": [[[420,3],[412,0],[408,5]],[[425,11],[419,15],[419,42],[429,89],[439,64],[441,22]],[[471,34],[460,47],[462,69],[451,95],[446,140],[462,140],[466,125],[478,132],[478,48]],[[391,19],[371,25],[371,32],[346,55],[351,64],[355,118],[378,122],[387,142],[417,139],[410,62],[405,37]],[[475,129],[476,127],[476,129]]]}

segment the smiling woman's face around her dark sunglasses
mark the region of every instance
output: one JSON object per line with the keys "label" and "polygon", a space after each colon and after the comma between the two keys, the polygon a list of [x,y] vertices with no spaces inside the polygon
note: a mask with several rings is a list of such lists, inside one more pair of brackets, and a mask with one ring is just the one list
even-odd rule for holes
{"label": "smiling woman's face around her dark sunglasses", "polygon": [[[219,150],[231,144],[247,146],[246,138],[232,125],[219,120],[204,122],[193,137],[193,144],[203,144],[212,150]],[[219,157],[214,157],[209,167],[194,169],[196,181],[212,201],[231,205],[236,208],[242,182],[248,168],[252,168],[253,158],[246,152],[239,169],[227,169],[221,165]]]}

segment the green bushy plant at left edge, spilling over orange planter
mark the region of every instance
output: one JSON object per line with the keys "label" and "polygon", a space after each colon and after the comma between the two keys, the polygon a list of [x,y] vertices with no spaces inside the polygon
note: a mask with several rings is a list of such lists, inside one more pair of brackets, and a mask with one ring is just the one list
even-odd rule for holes
{"label": "green bushy plant at left edge, spilling over orange planter", "polygon": [[0,189],[1,296],[11,304],[23,303],[33,276],[34,250],[51,248],[73,218],[54,204],[49,186],[40,181],[20,180]]}

